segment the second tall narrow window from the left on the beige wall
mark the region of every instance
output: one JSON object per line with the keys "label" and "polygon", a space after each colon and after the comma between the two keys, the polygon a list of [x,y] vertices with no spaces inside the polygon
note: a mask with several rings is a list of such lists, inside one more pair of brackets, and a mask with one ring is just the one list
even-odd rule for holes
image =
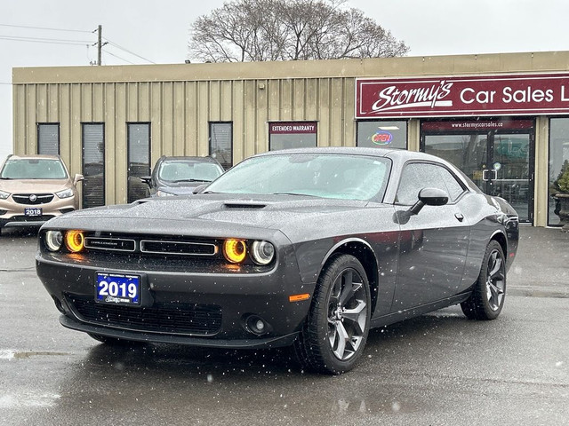
{"label": "second tall narrow window from the left on the beige wall", "polygon": [[83,202],[82,207],[105,205],[105,125],[83,123]]}

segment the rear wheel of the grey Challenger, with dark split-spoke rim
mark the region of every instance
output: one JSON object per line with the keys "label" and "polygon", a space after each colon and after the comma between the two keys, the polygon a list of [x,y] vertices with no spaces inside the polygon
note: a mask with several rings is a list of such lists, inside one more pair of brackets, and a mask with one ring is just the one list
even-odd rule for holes
{"label": "rear wheel of the grey Challenger, with dark split-spoke rim", "polygon": [[506,296],[506,259],[498,241],[486,247],[482,268],[472,295],[461,303],[469,319],[496,319]]}

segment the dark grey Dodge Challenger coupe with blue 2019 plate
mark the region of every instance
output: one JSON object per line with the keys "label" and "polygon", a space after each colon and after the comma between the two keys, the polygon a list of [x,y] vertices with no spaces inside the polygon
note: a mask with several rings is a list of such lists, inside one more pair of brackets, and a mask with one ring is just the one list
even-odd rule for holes
{"label": "dark grey Dodge Challenger coupe with blue 2019 plate", "polygon": [[516,211],[437,157],[313,148],[194,197],[54,218],[36,267],[61,324],[101,342],[294,345],[338,374],[370,327],[451,304],[498,317],[517,238]]}

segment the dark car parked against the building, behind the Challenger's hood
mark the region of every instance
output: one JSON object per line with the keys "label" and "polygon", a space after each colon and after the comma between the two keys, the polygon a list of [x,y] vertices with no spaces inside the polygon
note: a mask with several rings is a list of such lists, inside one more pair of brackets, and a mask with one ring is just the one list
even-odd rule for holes
{"label": "dark car parked against the building, behind the Challenger's hood", "polygon": [[152,176],[140,177],[148,184],[147,196],[190,195],[196,186],[212,182],[223,173],[212,157],[166,157],[156,162]]}

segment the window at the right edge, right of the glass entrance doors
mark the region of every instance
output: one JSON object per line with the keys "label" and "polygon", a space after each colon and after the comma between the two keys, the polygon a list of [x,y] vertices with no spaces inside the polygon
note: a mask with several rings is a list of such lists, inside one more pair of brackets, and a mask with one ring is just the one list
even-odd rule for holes
{"label": "window at the right edge, right of the glass entrance doors", "polygon": [[569,169],[569,118],[549,119],[549,217],[548,225],[563,225],[559,218],[561,203],[555,198],[562,171]]}

